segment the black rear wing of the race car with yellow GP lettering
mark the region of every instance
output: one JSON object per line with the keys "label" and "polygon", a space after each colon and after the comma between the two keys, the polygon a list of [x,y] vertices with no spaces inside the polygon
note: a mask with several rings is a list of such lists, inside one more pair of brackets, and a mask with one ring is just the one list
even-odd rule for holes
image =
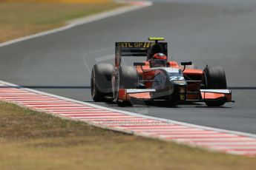
{"label": "black rear wing of the race car with yellow GP lettering", "polygon": [[[151,40],[151,39],[150,39]],[[151,58],[158,52],[167,54],[167,42],[116,42],[115,66],[119,67],[122,57],[147,57]]]}

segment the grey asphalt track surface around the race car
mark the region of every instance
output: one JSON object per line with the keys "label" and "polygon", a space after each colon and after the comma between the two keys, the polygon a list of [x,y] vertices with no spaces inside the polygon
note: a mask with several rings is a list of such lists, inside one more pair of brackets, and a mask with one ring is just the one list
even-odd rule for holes
{"label": "grey asphalt track surface around the race car", "polygon": [[[151,7],[0,47],[0,79],[92,102],[91,67],[113,62],[115,41],[164,36],[176,61],[222,65],[236,103],[119,108],[157,118],[256,134],[256,1],[155,1]],[[143,60],[143,58],[140,58]],[[125,64],[131,63],[126,58]]]}

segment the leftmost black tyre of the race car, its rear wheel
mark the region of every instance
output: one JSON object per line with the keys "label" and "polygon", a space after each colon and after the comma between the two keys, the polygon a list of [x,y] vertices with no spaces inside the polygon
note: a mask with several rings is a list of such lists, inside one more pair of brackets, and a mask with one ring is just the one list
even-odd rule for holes
{"label": "leftmost black tyre of the race car, its rear wheel", "polygon": [[114,72],[112,64],[95,64],[91,71],[91,97],[93,101],[113,101],[111,77]]}

